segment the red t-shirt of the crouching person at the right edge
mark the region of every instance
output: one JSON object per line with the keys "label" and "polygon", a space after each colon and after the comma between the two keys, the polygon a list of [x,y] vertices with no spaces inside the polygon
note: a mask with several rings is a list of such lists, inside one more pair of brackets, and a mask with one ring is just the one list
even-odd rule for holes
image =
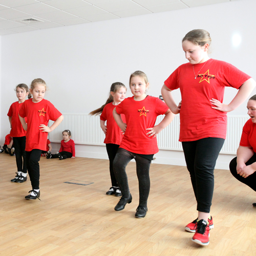
{"label": "red t-shirt of the crouching person at the right edge", "polygon": [[252,147],[253,152],[256,153],[256,124],[251,119],[243,127],[240,146]]}

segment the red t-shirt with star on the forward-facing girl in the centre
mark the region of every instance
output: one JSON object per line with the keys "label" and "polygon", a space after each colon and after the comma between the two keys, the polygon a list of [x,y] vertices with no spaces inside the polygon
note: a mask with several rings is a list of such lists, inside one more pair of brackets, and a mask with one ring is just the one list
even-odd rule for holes
{"label": "red t-shirt with star on the forward-facing girl in the centre", "polygon": [[150,131],[146,129],[154,127],[157,116],[167,110],[168,106],[156,97],[147,96],[140,101],[134,100],[134,96],[124,99],[116,106],[116,112],[125,115],[127,124],[120,147],[136,154],[156,154],[157,138],[148,137],[146,133]]}

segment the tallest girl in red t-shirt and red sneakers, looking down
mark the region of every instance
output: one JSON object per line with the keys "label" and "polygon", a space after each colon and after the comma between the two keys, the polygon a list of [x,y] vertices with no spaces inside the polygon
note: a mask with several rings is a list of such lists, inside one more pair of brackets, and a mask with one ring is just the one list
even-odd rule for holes
{"label": "tallest girl in red t-shirt and red sneakers, looking down", "polygon": [[[162,95],[174,114],[180,113],[180,141],[197,200],[198,218],[185,230],[195,232],[193,242],[209,244],[213,228],[210,206],[214,191],[214,168],[226,138],[226,112],[236,109],[251,93],[255,81],[227,62],[208,57],[211,38],[196,29],[182,40],[189,63],[178,67],[164,82]],[[224,104],[225,87],[238,89]],[[176,105],[172,91],[180,88],[182,102]]]}

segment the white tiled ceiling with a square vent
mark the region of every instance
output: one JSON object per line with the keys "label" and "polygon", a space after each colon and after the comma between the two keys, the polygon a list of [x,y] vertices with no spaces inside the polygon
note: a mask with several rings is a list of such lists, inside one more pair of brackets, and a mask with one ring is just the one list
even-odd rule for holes
{"label": "white tiled ceiling with a square vent", "polygon": [[[0,35],[236,0],[0,0]],[[24,19],[36,22],[22,22]]]}

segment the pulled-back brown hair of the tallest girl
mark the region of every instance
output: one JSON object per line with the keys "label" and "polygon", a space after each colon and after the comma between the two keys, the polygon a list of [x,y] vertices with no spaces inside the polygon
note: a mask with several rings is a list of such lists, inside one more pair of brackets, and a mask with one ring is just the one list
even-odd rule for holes
{"label": "pulled-back brown hair of the tallest girl", "polygon": [[193,42],[194,45],[204,46],[205,44],[211,43],[211,38],[209,32],[204,29],[194,29],[189,31],[182,39],[182,42],[185,40]]}

